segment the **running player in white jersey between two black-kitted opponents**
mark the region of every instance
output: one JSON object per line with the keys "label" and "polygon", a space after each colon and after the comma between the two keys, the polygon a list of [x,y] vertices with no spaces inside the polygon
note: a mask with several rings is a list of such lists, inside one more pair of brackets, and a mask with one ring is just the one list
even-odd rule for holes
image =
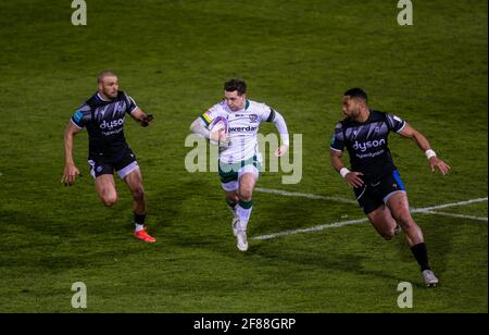
{"label": "running player in white jersey between two black-kitted opponents", "polygon": [[[209,125],[217,116],[227,119],[227,134],[209,131]],[[253,189],[261,170],[256,135],[262,122],[275,123],[281,139],[275,156],[283,157],[289,148],[284,116],[264,103],[247,99],[246,83],[231,79],[224,84],[224,100],[200,115],[190,126],[193,134],[220,146],[218,174],[226,193],[226,202],[234,215],[231,226],[237,248],[241,251],[248,250],[247,227],[253,208]]]}

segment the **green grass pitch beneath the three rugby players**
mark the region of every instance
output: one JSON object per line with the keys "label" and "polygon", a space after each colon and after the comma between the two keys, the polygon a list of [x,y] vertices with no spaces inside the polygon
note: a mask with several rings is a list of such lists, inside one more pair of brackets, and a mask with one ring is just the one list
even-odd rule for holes
{"label": "green grass pitch beneath the three rugby players", "polygon": [[[487,1],[414,1],[400,26],[397,1],[0,2],[0,312],[487,312],[487,221],[415,214],[441,285],[423,287],[402,236],[368,223],[273,239],[239,252],[215,173],[190,174],[190,123],[240,77],[249,97],[303,136],[303,176],[259,187],[353,199],[329,164],[346,89],[427,135],[452,171],[432,174],[413,142],[390,137],[413,208],[487,197]],[[104,208],[88,173],[86,132],[75,139],[83,176],[60,179],[63,131],[110,69],[155,116],[126,120],[158,243],[131,236],[131,199]],[[261,132],[274,132],[263,125]],[[249,236],[362,219],[354,204],[254,194]],[[440,210],[487,218],[487,201]],[[88,308],[71,306],[84,282]],[[413,308],[400,309],[400,282]]]}

